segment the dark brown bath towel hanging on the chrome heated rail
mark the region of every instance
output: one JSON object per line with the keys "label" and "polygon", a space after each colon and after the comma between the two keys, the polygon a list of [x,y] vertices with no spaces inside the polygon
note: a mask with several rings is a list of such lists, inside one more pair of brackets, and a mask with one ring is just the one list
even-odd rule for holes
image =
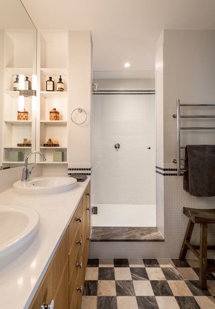
{"label": "dark brown bath towel hanging on the chrome heated rail", "polygon": [[215,196],[215,145],[186,145],[183,188],[194,196]]}

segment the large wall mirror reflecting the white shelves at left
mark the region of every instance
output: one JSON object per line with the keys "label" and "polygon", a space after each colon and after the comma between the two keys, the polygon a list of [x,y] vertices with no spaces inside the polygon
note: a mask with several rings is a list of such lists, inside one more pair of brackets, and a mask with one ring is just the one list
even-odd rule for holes
{"label": "large wall mirror reflecting the white shelves at left", "polygon": [[[22,166],[35,150],[36,97],[20,97],[19,88],[34,89],[37,30],[20,0],[1,2],[0,11],[0,169]],[[25,82],[21,86],[20,75]],[[23,76],[22,76],[23,77]],[[27,77],[27,78],[26,78]],[[29,158],[35,163],[35,156]]]}

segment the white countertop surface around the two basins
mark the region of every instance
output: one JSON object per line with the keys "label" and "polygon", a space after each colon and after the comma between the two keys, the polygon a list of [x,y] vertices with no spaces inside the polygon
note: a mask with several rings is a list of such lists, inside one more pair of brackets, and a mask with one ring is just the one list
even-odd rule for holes
{"label": "white countertop surface around the two basins", "polygon": [[49,195],[21,195],[13,189],[0,193],[2,205],[24,205],[40,214],[39,231],[32,245],[0,271],[0,308],[27,309],[89,183]]}

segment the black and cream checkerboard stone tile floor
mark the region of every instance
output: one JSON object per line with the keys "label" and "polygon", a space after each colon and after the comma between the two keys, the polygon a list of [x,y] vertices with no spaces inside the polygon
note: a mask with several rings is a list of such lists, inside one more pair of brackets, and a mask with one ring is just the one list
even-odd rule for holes
{"label": "black and cream checkerboard stone tile floor", "polygon": [[215,276],[201,290],[198,265],[194,258],[88,259],[81,309],[215,309]]}

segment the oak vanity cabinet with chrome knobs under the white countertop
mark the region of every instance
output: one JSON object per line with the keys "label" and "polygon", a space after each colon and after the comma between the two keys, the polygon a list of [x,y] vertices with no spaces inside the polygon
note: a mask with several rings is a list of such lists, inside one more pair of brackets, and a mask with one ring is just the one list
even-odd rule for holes
{"label": "oak vanity cabinet with chrome knobs under the white countertop", "polygon": [[[80,309],[89,252],[90,184],[75,210],[29,309],[54,299],[54,309]],[[82,287],[82,289],[81,289]],[[79,290],[77,289],[79,288]]]}

